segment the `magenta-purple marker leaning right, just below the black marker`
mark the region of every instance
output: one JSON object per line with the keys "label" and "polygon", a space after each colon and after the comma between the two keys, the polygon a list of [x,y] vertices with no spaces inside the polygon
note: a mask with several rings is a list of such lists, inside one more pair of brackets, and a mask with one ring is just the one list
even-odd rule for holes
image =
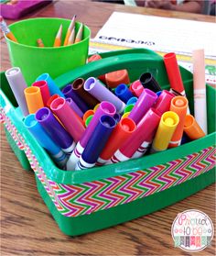
{"label": "magenta-purple marker leaning right, just below the black marker", "polygon": [[149,90],[144,89],[142,95],[139,96],[134,108],[132,109],[129,117],[135,121],[137,125],[142,117],[146,114],[147,110],[153,106],[157,100],[157,95]]}

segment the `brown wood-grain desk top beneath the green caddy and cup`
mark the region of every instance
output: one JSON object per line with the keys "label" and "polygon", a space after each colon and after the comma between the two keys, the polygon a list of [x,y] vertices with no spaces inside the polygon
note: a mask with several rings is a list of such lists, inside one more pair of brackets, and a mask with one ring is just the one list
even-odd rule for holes
{"label": "brown wood-grain desk top beneath the green caddy and cup", "polygon": [[[214,17],[87,0],[54,1],[28,17],[71,18],[77,14],[78,20],[92,29],[94,37],[113,11],[214,21]],[[1,71],[5,71],[10,67],[5,39],[1,40],[1,52]],[[1,255],[192,255],[174,248],[171,238],[173,220],[186,209],[204,211],[215,226],[215,186],[212,184],[173,206],[122,225],[76,238],[65,236],[38,195],[34,173],[21,168],[2,128]],[[213,255],[214,252],[215,239],[211,247],[196,255]]]}

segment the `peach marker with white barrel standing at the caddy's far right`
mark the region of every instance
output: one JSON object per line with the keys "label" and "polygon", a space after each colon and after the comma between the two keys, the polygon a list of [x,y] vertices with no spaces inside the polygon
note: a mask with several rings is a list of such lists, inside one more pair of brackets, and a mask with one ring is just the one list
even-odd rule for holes
{"label": "peach marker with white barrel standing at the caddy's far right", "polygon": [[194,117],[200,128],[207,134],[207,104],[205,82],[205,54],[204,50],[192,51],[193,62],[193,92]]}

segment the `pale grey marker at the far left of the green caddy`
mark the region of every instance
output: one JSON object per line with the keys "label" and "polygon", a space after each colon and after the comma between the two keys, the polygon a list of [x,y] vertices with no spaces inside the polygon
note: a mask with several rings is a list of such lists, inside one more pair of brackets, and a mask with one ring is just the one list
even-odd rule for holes
{"label": "pale grey marker at the far left of the green caddy", "polygon": [[27,88],[27,83],[19,68],[11,68],[5,72],[5,77],[11,87],[13,94],[16,97],[16,102],[20,107],[23,116],[28,115],[27,101],[24,95],[24,90]]}

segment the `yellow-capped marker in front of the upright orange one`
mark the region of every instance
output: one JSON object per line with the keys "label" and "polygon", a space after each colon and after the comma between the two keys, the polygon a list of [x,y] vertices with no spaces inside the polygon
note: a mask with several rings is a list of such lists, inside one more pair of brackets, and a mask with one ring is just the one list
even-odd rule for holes
{"label": "yellow-capped marker in front of the upright orange one", "polygon": [[178,122],[179,117],[173,111],[167,111],[162,115],[152,143],[151,152],[167,150],[168,143],[178,126]]}

